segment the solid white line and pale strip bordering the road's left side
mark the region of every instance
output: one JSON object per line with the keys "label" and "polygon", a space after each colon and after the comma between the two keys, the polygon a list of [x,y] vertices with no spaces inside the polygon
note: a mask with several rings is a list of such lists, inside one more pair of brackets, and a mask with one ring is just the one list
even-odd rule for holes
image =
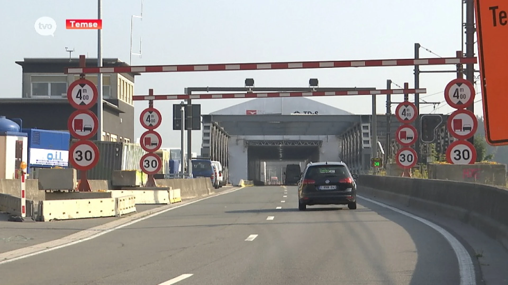
{"label": "solid white line and pale strip bordering the road's left side", "polygon": [[[7,252],[7,253],[3,253],[3,254],[0,254],[0,259],[4,259],[2,261],[0,261],[0,265],[2,264],[5,264],[5,263],[9,263],[9,262],[13,262],[13,261],[16,261],[16,260],[20,260],[20,259],[23,259],[23,258],[27,258],[27,257],[31,257],[31,256],[35,256],[35,255],[39,255],[39,254],[42,254],[42,253],[47,253],[47,252],[51,252],[51,251],[54,251],[54,250],[58,250],[59,248],[63,248],[63,247],[67,247],[67,246],[70,246],[70,245],[74,245],[76,243],[80,243],[80,242],[83,242],[83,241],[87,241],[87,240],[90,240],[90,239],[93,239],[93,238],[96,238],[96,237],[99,237],[103,234],[107,234],[109,232],[112,232],[114,230],[118,230],[118,229],[121,229],[123,227],[126,227],[126,226],[130,226],[130,225],[133,225],[133,224],[136,224],[137,222],[141,222],[143,220],[146,220],[146,219],[150,219],[152,217],[155,217],[155,216],[158,216],[158,215],[161,215],[162,213],[165,213],[167,211],[171,211],[171,210],[174,210],[174,209],[177,209],[177,208],[180,208],[180,207],[183,207],[183,206],[186,206],[186,205],[190,205],[190,204],[194,204],[196,202],[199,202],[199,201],[203,201],[203,200],[206,200],[206,199],[209,199],[209,198],[213,198],[213,197],[217,197],[217,196],[220,196],[220,195],[224,195],[224,194],[229,194],[229,193],[233,193],[235,191],[238,191],[240,189],[243,189],[245,187],[240,187],[240,188],[237,188],[237,189],[233,189],[231,191],[227,191],[227,192],[223,192],[223,193],[219,193],[217,195],[213,195],[213,196],[207,196],[207,197],[204,197],[204,198],[201,198],[201,199],[198,199],[196,201],[191,201],[191,202],[188,202],[188,203],[185,203],[185,204],[181,204],[181,205],[178,205],[178,206],[175,206],[175,207],[171,207],[171,208],[168,208],[168,209],[164,209],[162,211],[158,211],[158,212],[154,212],[154,213],[151,213],[150,215],[148,216],[144,216],[142,218],[139,218],[137,220],[132,220],[130,222],[126,222],[124,224],[121,224],[119,226],[116,226],[116,227],[113,227],[113,228],[110,228],[110,229],[107,229],[107,230],[103,230],[101,232],[98,232],[96,234],[93,234],[91,236],[88,236],[88,237],[85,237],[83,239],[78,239],[78,240],[74,240],[74,241],[71,241],[71,242],[67,242],[70,238],[68,237],[63,237],[63,238],[60,238],[60,239],[55,239],[55,240],[52,240],[52,241],[49,241],[51,243],[54,243],[54,242],[58,242],[58,241],[61,241],[61,242],[67,242],[67,243],[64,243],[64,244],[60,244],[60,245],[57,245],[57,246],[53,246],[53,247],[49,247],[49,248],[46,248],[44,250],[41,250],[41,251],[36,251],[36,252],[33,252],[33,253],[29,253],[29,254],[25,254],[25,255],[21,255],[21,256],[17,256],[17,257],[14,257],[14,258],[10,258],[9,259],[9,255],[12,254],[12,252],[16,252],[16,251],[19,251],[19,250],[15,250],[15,251],[11,251],[11,252]],[[125,219],[129,219],[129,217],[126,217]],[[109,222],[109,223],[106,223],[104,225],[102,225],[101,227],[103,226],[107,226],[108,224],[114,224],[114,223],[118,223],[119,220],[116,220],[116,221],[113,221],[113,222]],[[93,228],[92,228],[93,229]],[[89,232],[90,229],[88,230],[84,230],[84,231],[81,231],[83,233],[86,233],[86,232]],[[72,234],[71,236],[73,235],[76,235],[76,234],[79,234],[81,232],[78,232],[78,233],[75,233],[75,234]],[[36,244],[36,245],[33,245],[33,246],[28,246],[28,247],[25,247],[25,248],[20,248],[20,250],[24,250],[26,248],[34,248],[34,250],[37,250],[38,248],[40,248],[40,246],[44,244],[44,243],[41,243],[41,244]],[[2,256],[7,256],[6,258],[2,258]]]}

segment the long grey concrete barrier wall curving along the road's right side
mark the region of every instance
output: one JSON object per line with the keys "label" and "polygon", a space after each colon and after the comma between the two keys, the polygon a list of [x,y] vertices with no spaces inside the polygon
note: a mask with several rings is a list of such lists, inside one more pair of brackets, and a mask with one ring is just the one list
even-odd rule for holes
{"label": "long grey concrete barrier wall curving along the road's right side", "polygon": [[406,177],[360,175],[360,195],[393,200],[472,225],[508,249],[508,189]]}

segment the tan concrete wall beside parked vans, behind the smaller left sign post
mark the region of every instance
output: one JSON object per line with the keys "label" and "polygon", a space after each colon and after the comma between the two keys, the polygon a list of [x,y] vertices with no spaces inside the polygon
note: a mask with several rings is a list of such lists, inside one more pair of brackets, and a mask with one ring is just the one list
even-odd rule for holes
{"label": "tan concrete wall beside parked vans, behind the smaller left sign post", "polygon": [[182,199],[201,197],[214,193],[212,182],[208,178],[195,179],[156,179],[157,186],[180,189]]}

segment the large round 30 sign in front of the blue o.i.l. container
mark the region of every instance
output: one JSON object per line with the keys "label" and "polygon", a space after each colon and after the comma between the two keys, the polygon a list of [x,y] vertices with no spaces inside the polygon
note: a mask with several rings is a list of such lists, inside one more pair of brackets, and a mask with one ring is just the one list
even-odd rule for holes
{"label": "large round 30 sign in front of the blue o.i.l. container", "polygon": [[89,140],[79,140],[69,150],[69,161],[78,170],[89,170],[99,162],[99,148]]}

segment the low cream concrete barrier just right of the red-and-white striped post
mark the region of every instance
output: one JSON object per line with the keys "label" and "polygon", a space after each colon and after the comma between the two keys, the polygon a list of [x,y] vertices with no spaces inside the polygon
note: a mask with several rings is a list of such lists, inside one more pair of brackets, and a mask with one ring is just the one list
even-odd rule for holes
{"label": "low cream concrete barrier just right of the red-and-white striped post", "polygon": [[117,217],[135,212],[134,196],[73,200],[46,200],[40,202],[40,221],[83,218]]}

